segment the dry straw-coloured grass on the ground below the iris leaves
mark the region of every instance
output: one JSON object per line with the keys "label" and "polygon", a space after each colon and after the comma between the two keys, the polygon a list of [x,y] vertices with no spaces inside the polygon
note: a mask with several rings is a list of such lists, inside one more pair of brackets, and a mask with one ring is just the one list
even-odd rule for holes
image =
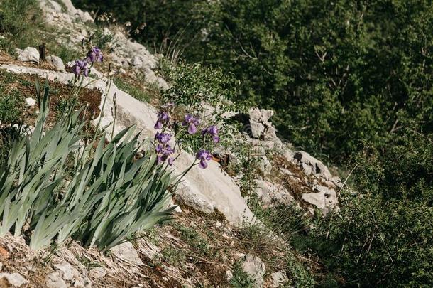
{"label": "dry straw-coloured grass on the ground below the iris leaves", "polygon": [[[247,253],[261,257],[268,274],[285,268],[285,248],[280,242],[269,240],[265,233],[260,234],[260,238],[256,238],[259,234],[248,235],[243,229],[226,223],[220,213],[204,214],[186,206],[182,206],[182,210],[172,223],[153,228],[132,241],[142,264],[128,262],[110,252],[103,254],[94,248],[84,248],[77,242],[47,247],[35,253],[23,238],[11,235],[0,238],[0,251],[3,251],[0,262],[4,272],[18,272],[28,279],[29,287],[44,287],[46,275],[55,271],[53,263],[65,261],[80,274],[103,267],[106,275],[91,279],[93,287],[141,284],[143,287],[181,288],[186,283],[195,287],[229,287],[226,271],[233,270],[240,255]],[[257,245],[258,242],[263,244]],[[152,248],[149,247],[157,249],[151,259],[148,255]],[[172,254],[167,253],[170,250]],[[173,257],[178,257],[179,262]],[[266,283],[268,287],[269,277]]]}

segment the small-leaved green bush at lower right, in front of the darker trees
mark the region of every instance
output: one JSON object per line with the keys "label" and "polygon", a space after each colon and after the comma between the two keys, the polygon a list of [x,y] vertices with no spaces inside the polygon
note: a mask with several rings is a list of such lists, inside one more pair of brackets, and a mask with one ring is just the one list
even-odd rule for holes
{"label": "small-leaved green bush at lower right, in front of the darker trees", "polygon": [[[322,226],[322,259],[352,286],[424,287],[433,283],[433,142],[414,130],[392,149],[355,157],[358,193]],[[329,249],[331,248],[331,249]]]}

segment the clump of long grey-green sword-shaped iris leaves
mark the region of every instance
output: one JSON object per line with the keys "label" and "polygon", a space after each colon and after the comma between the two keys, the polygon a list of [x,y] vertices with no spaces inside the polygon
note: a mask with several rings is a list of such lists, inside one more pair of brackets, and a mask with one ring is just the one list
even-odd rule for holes
{"label": "clump of long grey-green sword-shaped iris leaves", "polygon": [[104,134],[85,131],[84,107],[70,107],[45,131],[48,83],[42,90],[37,83],[36,90],[35,129],[14,140],[0,167],[0,237],[23,235],[33,250],[71,239],[109,250],[170,219],[173,208],[165,207],[175,177],[155,164],[155,154],[135,159],[135,127],[106,144]]}

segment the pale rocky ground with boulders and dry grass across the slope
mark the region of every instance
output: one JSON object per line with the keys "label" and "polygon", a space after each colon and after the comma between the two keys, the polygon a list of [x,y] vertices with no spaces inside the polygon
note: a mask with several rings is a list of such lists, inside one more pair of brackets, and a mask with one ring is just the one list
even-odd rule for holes
{"label": "pale rocky ground with boulders and dry grass across the slope", "polygon": [[[40,5],[48,23],[57,28],[58,41],[70,43],[71,49],[92,36],[92,17],[75,9],[70,0],[40,0]],[[145,75],[148,85],[166,89],[167,82],[154,71],[158,58],[120,29],[106,28],[104,33],[111,36],[105,61],[111,64],[93,71],[100,79],[89,82],[89,91],[99,93],[82,101],[100,105],[101,95],[106,95],[103,127],[111,131],[111,110],[116,105],[117,131],[137,124],[143,130],[141,137],[149,137],[155,132],[155,108],[116,85],[108,91],[106,87],[109,73],[128,73]],[[65,71],[66,66],[49,53],[42,61],[35,48],[0,57],[3,71],[22,78],[48,78],[58,85],[67,85],[73,77]],[[28,105],[33,107],[35,102],[29,98]],[[321,161],[278,139],[270,122],[272,115],[272,111],[258,108],[234,115],[243,122],[236,137],[251,145],[258,163],[253,188],[246,195],[239,188],[241,174],[231,174],[226,164],[212,162],[209,169],[192,169],[185,177],[174,196],[180,208],[172,223],[155,227],[108,253],[84,249],[75,242],[36,253],[26,239],[8,235],[0,238],[0,287],[228,287],[236,283],[241,283],[236,287],[248,287],[242,282],[245,273],[253,278],[254,287],[290,286],[287,257],[292,263],[314,260],[299,259],[278,233],[265,228],[248,206],[248,198],[258,198],[263,210],[290,205],[309,217],[338,208],[338,193],[344,183]],[[234,151],[219,154],[221,159],[238,161]],[[184,171],[193,158],[182,152],[175,169]]]}

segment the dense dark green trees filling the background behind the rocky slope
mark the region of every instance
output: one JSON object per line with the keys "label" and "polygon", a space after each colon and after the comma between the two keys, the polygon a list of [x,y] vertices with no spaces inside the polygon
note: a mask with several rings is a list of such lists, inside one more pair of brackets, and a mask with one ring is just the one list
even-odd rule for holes
{"label": "dense dark green trees filling the background behind the rocky slope", "polygon": [[233,73],[238,100],[275,110],[283,137],[332,161],[389,143],[408,119],[432,132],[429,1],[130,0],[132,14],[77,2],[145,22],[150,48],[185,43],[186,60]]}

